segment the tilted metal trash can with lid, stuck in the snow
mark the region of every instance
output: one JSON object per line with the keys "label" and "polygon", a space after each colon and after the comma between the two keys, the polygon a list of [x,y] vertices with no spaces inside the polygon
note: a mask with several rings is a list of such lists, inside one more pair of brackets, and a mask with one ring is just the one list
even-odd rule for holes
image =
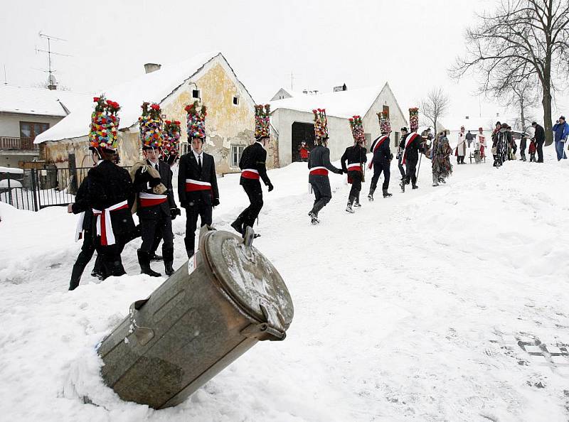
{"label": "tilted metal trash can with lid, stuck in the snow", "polygon": [[98,349],[105,383],[126,401],[176,406],[259,340],[284,340],[285,282],[252,242],[203,227],[196,254]]}

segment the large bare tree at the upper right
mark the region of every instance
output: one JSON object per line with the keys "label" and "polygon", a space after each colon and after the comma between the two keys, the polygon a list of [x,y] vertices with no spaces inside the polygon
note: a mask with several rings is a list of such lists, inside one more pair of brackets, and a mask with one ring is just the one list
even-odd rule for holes
{"label": "large bare tree at the upper right", "polygon": [[549,145],[554,78],[569,74],[568,40],[569,1],[500,0],[467,30],[467,54],[457,59],[450,74],[459,78],[472,70],[482,77],[484,92],[492,87],[505,92],[528,78],[538,81]]}

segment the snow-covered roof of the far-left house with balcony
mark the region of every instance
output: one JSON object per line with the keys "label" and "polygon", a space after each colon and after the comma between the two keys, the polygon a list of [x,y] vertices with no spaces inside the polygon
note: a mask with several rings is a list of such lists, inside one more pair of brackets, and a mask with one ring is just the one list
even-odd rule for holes
{"label": "snow-covered roof of the far-left house with balcony", "polygon": [[0,85],[0,112],[65,117],[90,94]]}

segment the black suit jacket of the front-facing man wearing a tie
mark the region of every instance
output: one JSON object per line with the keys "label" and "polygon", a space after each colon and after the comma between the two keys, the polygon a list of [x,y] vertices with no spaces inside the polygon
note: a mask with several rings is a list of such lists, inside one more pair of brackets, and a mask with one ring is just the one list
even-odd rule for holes
{"label": "black suit jacket of the front-facing man wearing a tie", "polygon": [[[186,192],[186,179],[209,182],[211,183],[211,190]],[[205,152],[203,153],[201,171],[193,151],[181,156],[178,168],[178,198],[182,207],[187,207],[189,202],[196,201],[201,201],[206,205],[213,205],[212,201],[214,199],[219,200],[218,177],[213,156]]]}

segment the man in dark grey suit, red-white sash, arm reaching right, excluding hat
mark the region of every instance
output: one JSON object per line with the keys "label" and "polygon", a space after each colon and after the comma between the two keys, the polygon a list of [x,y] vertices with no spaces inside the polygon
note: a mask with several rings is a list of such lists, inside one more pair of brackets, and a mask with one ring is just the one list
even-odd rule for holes
{"label": "man in dark grey suit, red-white sash, arm reaching right, excluding hat", "polygon": [[316,139],[316,146],[312,148],[308,160],[308,168],[310,170],[308,181],[312,186],[312,192],[314,192],[314,206],[309,211],[308,216],[311,218],[312,224],[318,224],[320,222],[318,213],[332,199],[328,172],[342,174],[341,168],[336,168],[330,163],[328,136]]}

